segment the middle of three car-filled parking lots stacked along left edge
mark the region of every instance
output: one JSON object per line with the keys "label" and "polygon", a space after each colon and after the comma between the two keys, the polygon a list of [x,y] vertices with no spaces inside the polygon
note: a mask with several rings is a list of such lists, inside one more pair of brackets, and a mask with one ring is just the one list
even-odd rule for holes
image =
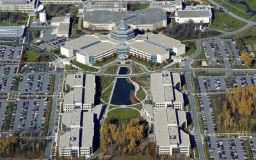
{"label": "middle of three car-filled parking lots stacked along left edge", "polygon": [[15,79],[19,78],[17,93],[47,93],[51,83],[51,74],[47,65],[22,67],[17,75],[16,66],[0,67],[0,93],[10,93]]}

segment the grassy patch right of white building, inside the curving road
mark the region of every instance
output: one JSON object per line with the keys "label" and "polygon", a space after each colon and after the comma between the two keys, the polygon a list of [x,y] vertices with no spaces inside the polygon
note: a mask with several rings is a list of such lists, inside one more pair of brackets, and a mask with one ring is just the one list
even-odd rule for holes
{"label": "grassy patch right of white building, inside the curving road", "polygon": [[236,31],[246,25],[246,22],[235,19],[225,12],[215,12],[209,28],[219,29],[221,31]]}

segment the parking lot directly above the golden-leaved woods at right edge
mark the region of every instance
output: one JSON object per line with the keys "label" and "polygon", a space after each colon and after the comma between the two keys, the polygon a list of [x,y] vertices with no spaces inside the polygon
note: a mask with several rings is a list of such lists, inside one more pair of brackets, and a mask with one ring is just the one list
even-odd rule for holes
{"label": "parking lot directly above the golden-leaved woods at right edge", "polygon": [[196,77],[197,92],[216,92],[234,90],[237,86],[248,86],[256,83],[256,76],[204,76]]}

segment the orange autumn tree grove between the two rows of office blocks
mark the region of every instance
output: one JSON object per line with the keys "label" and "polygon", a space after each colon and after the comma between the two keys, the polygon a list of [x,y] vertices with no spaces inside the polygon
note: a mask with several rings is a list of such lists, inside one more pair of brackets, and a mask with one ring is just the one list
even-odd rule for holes
{"label": "orange autumn tree grove between the two rows of office blocks", "polygon": [[108,154],[138,154],[138,146],[145,141],[147,134],[148,124],[145,120],[134,118],[120,125],[106,118],[100,131],[100,146]]}

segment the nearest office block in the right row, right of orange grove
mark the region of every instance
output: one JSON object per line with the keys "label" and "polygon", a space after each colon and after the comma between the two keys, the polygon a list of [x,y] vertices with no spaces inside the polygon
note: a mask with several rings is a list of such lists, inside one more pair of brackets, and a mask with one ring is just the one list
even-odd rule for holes
{"label": "nearest office block in the right row, right of orange grove", "polygon": [[189,134],[182,130],[188,125],[186,112],[173,108],[157,109],[154,111],[154,120],[156,153],[189,156],[191,149]]}

